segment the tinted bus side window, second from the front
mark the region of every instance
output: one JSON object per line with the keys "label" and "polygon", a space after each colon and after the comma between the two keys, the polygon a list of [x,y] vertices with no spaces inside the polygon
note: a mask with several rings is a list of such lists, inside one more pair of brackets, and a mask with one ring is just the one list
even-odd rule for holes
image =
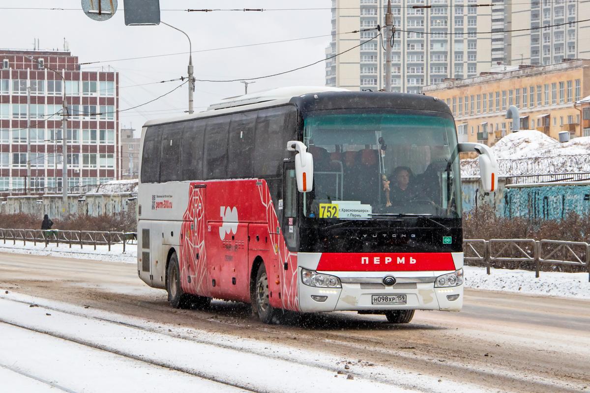
{"label": "tinted bus side window, second from the front", "polygon": [[256,116],[256,111],[232,115],[227,163],[227,176],[231,179],[252,177]]}

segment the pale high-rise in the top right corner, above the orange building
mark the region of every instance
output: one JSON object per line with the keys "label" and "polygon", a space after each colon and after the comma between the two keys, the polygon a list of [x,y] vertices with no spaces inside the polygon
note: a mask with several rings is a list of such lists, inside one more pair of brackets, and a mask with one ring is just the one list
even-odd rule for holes
{"label": "pale high-rise in the top right corner, above the orange building", "polygon": [[[590,58],[590,0],[507,2],[506,62],[548,65],[564,58]],[[586,20],[586,22],[573,23]]]}

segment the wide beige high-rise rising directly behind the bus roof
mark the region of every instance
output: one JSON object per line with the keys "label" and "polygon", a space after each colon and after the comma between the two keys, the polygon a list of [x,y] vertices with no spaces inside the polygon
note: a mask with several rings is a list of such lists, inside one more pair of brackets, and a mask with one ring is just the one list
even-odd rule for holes
{"label": "wide beige high-rise rising directly behind the bus roof", "polygon": [[[491,64],[490,7],[477,0],[393,0],[397,31],[392,52],[392,90],[420,93],[445,78],[474,77]],[[424,8],[430,6],[431,8]],[[326,57],[375,37],[385,25],[387,0],[332,0],[332,42]],[[503,13],[502,13],[503,15]],[[385,86],[385,51],[379,38],[326,61],[326,85],[350,90]],[[385,45],[385,40],[383,40]]]}

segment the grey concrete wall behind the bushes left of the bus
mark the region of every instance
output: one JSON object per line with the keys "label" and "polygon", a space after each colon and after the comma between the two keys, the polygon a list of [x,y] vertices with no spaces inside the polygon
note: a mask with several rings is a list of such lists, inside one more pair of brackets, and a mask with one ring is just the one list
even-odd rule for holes
{"label": "grey concrete wall behind the bushes left of the bus", "polygon": [[[114,214],[135,212],[135,193],[112,193],[69,195],[68,204],[70,214],[101,216],[102,214]],[[131,200],[129,200],[131,198]],[[61,219],[64,215],[61,195],[44,196],[14,196],[6,197],[0,201],[0,213],[16,214],[27,213],[38,217],[48,214],[52,219]]]}

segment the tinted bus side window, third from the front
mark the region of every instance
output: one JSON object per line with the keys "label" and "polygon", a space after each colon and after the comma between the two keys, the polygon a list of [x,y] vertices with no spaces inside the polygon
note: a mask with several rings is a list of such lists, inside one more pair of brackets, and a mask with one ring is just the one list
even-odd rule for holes
{"label": "tinted bus side window, third from the front", "polygon": [[227,177],[227,137],[230,116],[212,117],[205,129],[205,179]]}

